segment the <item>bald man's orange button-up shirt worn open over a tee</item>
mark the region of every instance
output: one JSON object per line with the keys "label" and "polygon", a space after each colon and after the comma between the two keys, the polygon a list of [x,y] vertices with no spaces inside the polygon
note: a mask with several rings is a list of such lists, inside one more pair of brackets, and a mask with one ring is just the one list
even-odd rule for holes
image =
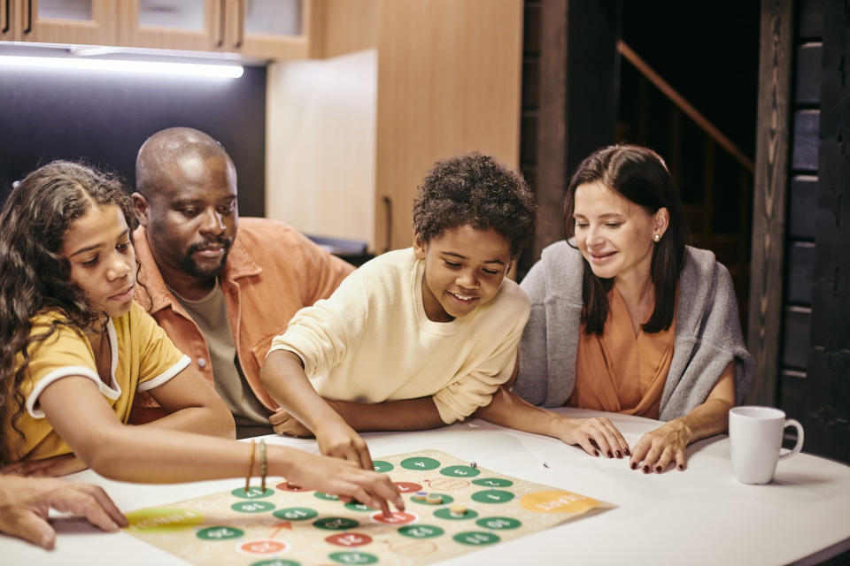
{"label": "bald man's orange button-up shirt worn open over a tee", "polygon": [[[139,280],[143,284],[137,288],[136,301],[151,313],[212,386],[213,367],[204,335],[166,287],[151,255],[144,226],[135,230],[134,238],[135,256],[141,264]],[[259,369],[272,339],[286,330],[299,309],[333,293],[353,269],[280,221],[239,218],[236,240],[220,282],[239,365],[251,391],[270,411],[278,404],[260,383]],[[147,422],[161,415],[149,394],[137,396],[132,422]]]}

